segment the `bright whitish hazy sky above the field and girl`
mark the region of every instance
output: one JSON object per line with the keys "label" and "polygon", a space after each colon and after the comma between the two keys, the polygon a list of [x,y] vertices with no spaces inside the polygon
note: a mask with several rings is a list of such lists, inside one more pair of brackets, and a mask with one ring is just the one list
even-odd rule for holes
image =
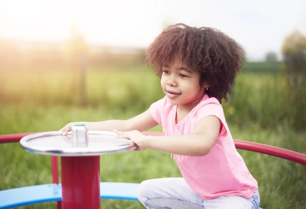
{"label": "bright whitish hazy sky above the field and girl", "polygon": [[263,60],[294,30],[306,35],[305,11],[305,0],[0,0],[0,38],[61,41],[75,25],[92,44],[146,47],[183,22],[216,28]]}

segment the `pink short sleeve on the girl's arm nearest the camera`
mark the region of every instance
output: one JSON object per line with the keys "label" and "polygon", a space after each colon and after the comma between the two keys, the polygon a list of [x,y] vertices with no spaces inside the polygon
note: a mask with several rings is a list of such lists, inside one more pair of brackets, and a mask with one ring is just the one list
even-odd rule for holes
{"label": "pink short sleeve on the girl's arm nearest the camera", "polygon": [[226,137],[227,129],[226,129],[226,121],[223,112],[223,108],[220,103],[208,103],[207,105],[202,106],[196,115],[196,123],[198,123],[202,118],[206,116],[215,116],[221,122],[221,130],[219,136]]}

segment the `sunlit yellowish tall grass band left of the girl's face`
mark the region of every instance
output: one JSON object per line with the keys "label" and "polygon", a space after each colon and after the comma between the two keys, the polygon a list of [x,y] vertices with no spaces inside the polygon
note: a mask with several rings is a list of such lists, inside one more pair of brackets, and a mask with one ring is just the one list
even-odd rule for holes
{"label": "sunlit yellowish tall grass band left of the girl's face", "polygon": [[[125,110],[160,97],[160,80],[151,69],[143,67],[89,69],[86,75],[86,100],[91,107]],[[0,103],[43,106],[80,105],[80,75],[67,70],[0,71]],[[135,103],[134,99],[138,99]],[[122,100],[125,100],[122,105]]]}

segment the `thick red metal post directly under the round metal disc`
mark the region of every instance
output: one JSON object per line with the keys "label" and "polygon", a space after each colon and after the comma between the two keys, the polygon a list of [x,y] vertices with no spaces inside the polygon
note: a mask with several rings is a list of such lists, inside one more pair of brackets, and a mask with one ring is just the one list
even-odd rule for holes
{"label": "thick red metal post directly under the round metal disc", "polygon": [[62,208],[100,209],[99,156],[62,156]]}

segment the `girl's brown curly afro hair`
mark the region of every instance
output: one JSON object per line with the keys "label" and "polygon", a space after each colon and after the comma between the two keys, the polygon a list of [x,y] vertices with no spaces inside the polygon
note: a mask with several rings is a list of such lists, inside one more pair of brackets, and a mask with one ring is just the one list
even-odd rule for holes
{"label": "girl's brown curly afro hair", "polygon": [[176,56],[200,73],[200,85],[210,85],[207,94],[221,102],[228,100],[242,67],[243,48],[224,33],[207,27],[170,25],[147,50],[147,64],[161,76],[163,66],[171,66]]}

